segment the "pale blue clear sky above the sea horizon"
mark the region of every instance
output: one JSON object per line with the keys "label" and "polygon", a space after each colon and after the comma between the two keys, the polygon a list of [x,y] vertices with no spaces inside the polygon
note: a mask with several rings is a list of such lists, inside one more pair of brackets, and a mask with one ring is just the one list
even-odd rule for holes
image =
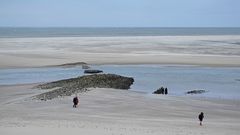
{"label": "pale blue clear sky above the sea horizon", "polygon": [[0,0],[0,27],[240,27],[240,0]]}

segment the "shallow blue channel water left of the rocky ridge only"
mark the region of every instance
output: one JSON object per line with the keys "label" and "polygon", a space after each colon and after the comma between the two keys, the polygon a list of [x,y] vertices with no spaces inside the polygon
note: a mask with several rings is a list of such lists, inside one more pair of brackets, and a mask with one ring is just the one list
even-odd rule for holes
{"label": "shallow blue channel water left of the rocky ridge only", "polygon": [[49,82],[83,75],[79,67],[0,69],[0,85]]}

